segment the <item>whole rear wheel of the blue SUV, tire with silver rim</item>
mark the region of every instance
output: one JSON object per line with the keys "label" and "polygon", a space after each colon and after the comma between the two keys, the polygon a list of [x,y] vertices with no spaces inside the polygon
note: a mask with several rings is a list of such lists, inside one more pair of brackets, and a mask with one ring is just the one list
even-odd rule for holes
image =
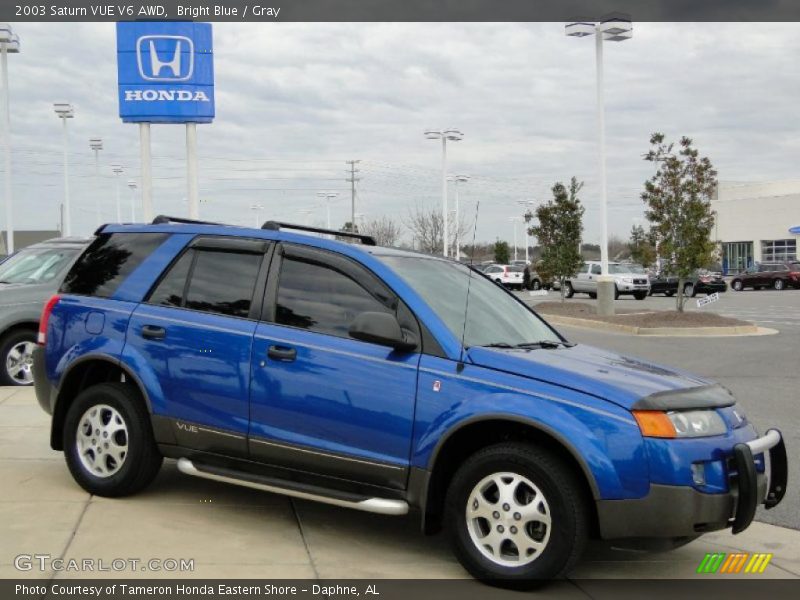
{"label": "whole rear wheel of the blue SUV, tire with silver rim", "polygon": [[163,460],[139,392],[124,383],[82,391],[64,420],[64,455],[72,477],[98,496],[146,487]]}

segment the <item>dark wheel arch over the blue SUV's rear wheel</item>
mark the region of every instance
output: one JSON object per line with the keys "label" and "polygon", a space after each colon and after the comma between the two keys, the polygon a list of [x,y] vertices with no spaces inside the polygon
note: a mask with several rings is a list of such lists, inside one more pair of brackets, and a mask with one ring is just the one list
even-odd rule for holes
{"label": "dark wheel arch over the blue SUV's rear wheel", "polygon": [[147,412],[152,414],[152,406],[147,390],[135,373],[126,368],[119,360],[107,354],[83,356],[73,362],[64,372],[56,390],[50,428],[50,447],[53,450],[63,450],[64,448],[64,419],[70,405],[78,394],[93,385],[110,381],[127,382],[136,387],[139,396],[145,403]]}

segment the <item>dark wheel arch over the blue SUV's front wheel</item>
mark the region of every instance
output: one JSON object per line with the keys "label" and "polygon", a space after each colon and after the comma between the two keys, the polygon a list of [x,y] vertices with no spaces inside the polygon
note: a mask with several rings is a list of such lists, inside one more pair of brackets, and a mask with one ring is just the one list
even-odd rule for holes
{"label": "dark wheel arch over the blue SUV's front wheel", "polygon": [[[453,427],[431,453],[427,477],[416,494],[422,512],[422,530],[434,533],[441,528],[447,487],[455,473],[454,466],[468,454],[504,441],[527,441],[544,447],[564,460],[578,476],[584,492],[599,499],[600,490],[592,471],[580,453],[564,436],[542,423],[515,415],[481,415]],[[593,530],[597,530],[596,509],[592,511]]]}

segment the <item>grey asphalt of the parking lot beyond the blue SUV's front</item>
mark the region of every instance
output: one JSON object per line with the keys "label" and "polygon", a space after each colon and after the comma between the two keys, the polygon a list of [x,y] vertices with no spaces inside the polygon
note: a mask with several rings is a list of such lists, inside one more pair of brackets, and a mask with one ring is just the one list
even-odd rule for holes
{"label": "grey asphalt of the parking lot beyond the blue SUV's front", "polygon": [[[530,304],[558,300],[557,292],[531,297]],[[579,294],[567,302],[594,302]],[[643,301],[623,296],[620,308],[674,309],[675,299],[652,296]],[[616,334],[559,327],[570,340],[601,346],[664,365],[673,365],[719,381],[730,389],[759,432],[781,430],[789,454],[789,488],[783,502],[756,519],[800,529],[800,290],[729,291],[702,309],[689,300],[688,310],[713,310],[723,315],[777,329],[778,334],[752,337],[670,338]]]}

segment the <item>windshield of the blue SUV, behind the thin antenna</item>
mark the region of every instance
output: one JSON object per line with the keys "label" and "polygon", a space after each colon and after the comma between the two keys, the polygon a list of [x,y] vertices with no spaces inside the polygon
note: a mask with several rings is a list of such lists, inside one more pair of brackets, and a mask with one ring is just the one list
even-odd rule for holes
{"label": "windshield of the blue SUV, behind the thin antenna", "polygon": [[[561,341],[541,319],[508,292],[464,265],[417,257],[378,258],[422,296],[454,336],[461,339],[464,333],[466,347]],[[464,309],[470,280],[469,312],[464,332]]]}

